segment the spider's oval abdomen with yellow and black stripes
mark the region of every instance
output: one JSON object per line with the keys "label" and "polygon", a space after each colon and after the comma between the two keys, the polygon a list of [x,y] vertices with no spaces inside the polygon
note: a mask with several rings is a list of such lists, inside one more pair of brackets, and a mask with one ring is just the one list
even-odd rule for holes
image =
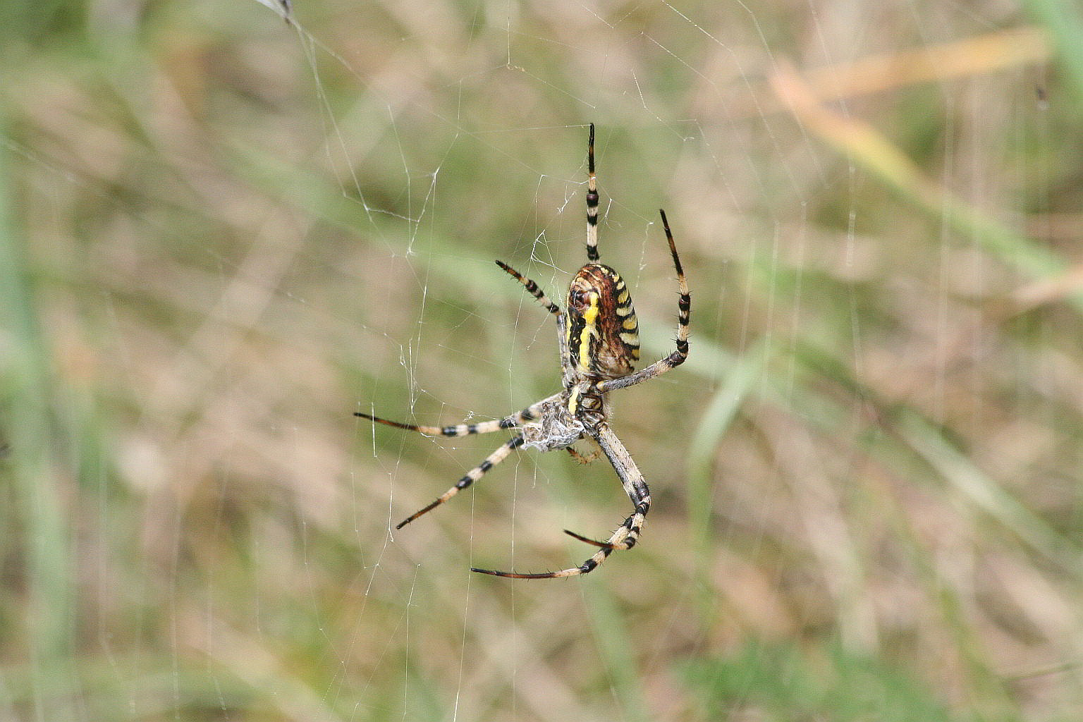
{"label": "spider's oval abdomen with yellow and black stripes", "polygon": [[589,377],[626,376],[639,360],[639,321],[628,287],[613,268],[588,263],[567,289],[567,351]]}

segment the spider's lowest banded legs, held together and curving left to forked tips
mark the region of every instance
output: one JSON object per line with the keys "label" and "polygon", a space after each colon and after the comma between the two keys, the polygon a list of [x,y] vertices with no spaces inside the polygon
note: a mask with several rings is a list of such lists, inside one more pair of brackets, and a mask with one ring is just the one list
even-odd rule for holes
{"label": "spider's lowest banded legs, held together and curving left to forked tips", "polygon": [[557,577],[574,577],[592,572],[599,564],[609,559],[609,555],[614,551],[618,549],[631,549],[636,546],[636,542],[639,541],[639,535],[643,528],[643,522],[647,520],[647,512],[651,509],[651,490],[647,488],[647,481],[643,478],[643,474],[639,471],[636,462],[632,461],[628,449],[625,448],[624,444],[619,438],[617,438],[616,434],[613,433],[613,430],[610,429],[608,423],[602,421],[597,428],[588,430],[588,433],[595,438],[595,441],[598,442],[598,445],[602,447],[602,451],[605,452],[605,456],[609,457],[610,463],[613,464],[613,469],[616,471],[617,476],[621,477],[621,484],[624,485],[625,493],[635,506],[628,518],[624,520],[624,523],[617,527],[616,531],[613,533],[613,536],[611,536],[608,541],[595,541],[593,539],[580,536],[574,531],[565,530],[566,534],[575,537],[579,541],[585,541],[588,544],[593,544],[600,548],[593,556],[579,566],[561,569],[560,572],[542,572],[537,574],[496,572],[494,569],[478,569],[473,567],[471,567],[471,572],[490,574],[494,577],[510,577],[513,579],[554,579]]}

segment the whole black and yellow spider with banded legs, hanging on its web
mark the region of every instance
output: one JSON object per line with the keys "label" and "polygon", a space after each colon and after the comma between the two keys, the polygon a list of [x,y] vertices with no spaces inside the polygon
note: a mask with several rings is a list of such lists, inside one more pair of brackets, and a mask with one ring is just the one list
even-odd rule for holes
{"label": "whole black and yellow spider with banded legs, hanging on its web", "polygon": [[617,389],[626,389],[649,381],[684,363],[689,350],[688,325],[692,299],[688,291],[684,271],[681,268],[680,258],[677,255],[677,247],[674,245],[666,213],[664,210],[660,210],[662,227],[665,229],[666,240],[669,242],[669,252],[677,271],[677,287],[680,291],[677,301],[677,349],[647,368],[634,371],[632,365],[639,360],[639,324],[631,306],[631,297],[621,274],[598,262],[600,258],[598,253],[599,198],[598,182],[595,176],[593,123],[590,123],[590,137],[587,142],[587,264],[575,274],[567,289],[566,313],[550,301],[533,280],[522,276],[508,264],[501,261],[496,262],[512,278],[522,284],[546,311],[557,317],[557,340],[560,347],[563,390],[503,419],[480,423],[464,422],[453,426],[421,426],[389,421],[360,411],[355,412],[355,416],[378,423],[433,436],[487,434],[504,429],[512,430],[514,434],[503,446],[485,457],[484,461],[468,471],[466,476],[460,478],[455,486],[447,489],[429,506],[395,525],[396,529],[403,528],[422,514],[432,511],[477,482],[518,448],[534,448],[539,451],[566,449],[576,459],[588,461],[588,458],[572,448],[572,444],[580,438],[589,438],[601,448],[602,454],[613,464],[616,475],[624,485],[625,493],[631,499],[634,506],[631,514],[606,541],[596,541],[574,531],[564,530],[565,534],[579,541],[598,547],[598,551],[590,559],[579,566],[560,572],[518,574],[475,567],[471,567],[471,572],[517,579],[551,579],[587,574],[604,562],[614,551],[631,549],[636,546],[647,518],[647,512],[651,508],[651,493],[647,488],[643,474],[632,461],[628,449],[610,428],[609,417],[612,406],[609,394]]}

